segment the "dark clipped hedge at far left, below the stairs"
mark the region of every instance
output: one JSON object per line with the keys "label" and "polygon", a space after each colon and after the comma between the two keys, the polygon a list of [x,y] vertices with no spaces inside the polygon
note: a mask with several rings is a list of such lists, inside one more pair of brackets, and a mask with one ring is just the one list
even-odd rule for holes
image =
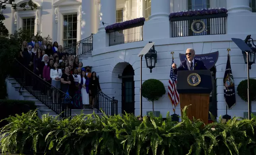
{"label": "dark clipped hedge at far left, below the stairs", "polygon": [[[29,110],[36,110],[35,102],[28,100],[0,100],[0,120],[8,118],[10,115],[26,113]],[[8,124],[7,121],[1,121],[0,127]]]}

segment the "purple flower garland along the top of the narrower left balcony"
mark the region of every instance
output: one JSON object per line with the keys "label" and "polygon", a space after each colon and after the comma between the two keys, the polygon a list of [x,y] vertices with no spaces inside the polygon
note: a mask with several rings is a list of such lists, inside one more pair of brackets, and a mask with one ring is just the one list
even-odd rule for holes
{"label": "purple flower garland along the top of the narrower left balcony", "polygon": [[132,20],[129,20],[129,21],[124,21],[124,22],[121,22],[121,23],[114,23],[112,25],[108,25],[105,27],[105,30],[112,30],[114,28],[122,28],[122,27],[126,27],[128,25],[133,25],[133,24],[137,24],[137,23],[142,23],[145,21],[145,18],[142,17],[142,18],[136,18],[136,19],[132,19]]}

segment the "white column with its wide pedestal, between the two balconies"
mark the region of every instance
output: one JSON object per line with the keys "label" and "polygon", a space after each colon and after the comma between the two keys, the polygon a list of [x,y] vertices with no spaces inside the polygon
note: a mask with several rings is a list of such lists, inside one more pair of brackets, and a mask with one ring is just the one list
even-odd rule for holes
{"label": "white column with its wide pedestal, between the two balconies", "polygon": [[170,0],[151,0],[151,16],[143,27],[143,40],[170,38]]}

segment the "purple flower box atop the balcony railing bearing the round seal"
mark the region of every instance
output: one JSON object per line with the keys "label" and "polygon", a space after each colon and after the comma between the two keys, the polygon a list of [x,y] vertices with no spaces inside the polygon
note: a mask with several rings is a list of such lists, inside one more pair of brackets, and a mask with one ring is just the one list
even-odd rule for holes
{"label": "purple flower box atop the balcony railing bearing the round seal", "polygon": [[170,21],[227,17],[227,9],[202,9],[195,11],[176,12],[169,15]]}

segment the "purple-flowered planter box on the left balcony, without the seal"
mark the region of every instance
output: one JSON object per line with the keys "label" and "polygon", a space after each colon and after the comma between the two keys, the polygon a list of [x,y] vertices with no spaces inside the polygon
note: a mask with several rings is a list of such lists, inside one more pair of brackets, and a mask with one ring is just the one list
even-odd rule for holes
{"label": "purple-flowered planter box on the left balcony, without the seal", "polygon": [[132,28],[137,26],[144,25],[145,18],[136,18],[129,21],[124,21],[121,23],[114,23],[112,25],[108,25],[105,27],[105,30],[107,33],[118,31],[118,30],[124,30],[126,28]]}

